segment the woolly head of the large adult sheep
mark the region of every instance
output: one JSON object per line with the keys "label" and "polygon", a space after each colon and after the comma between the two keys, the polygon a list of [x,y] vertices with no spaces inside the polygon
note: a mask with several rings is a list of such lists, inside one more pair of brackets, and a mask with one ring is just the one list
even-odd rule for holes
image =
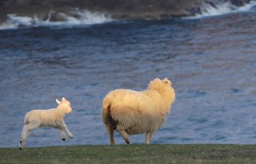
{"label": "woolly head of the large adult sheep", "polygon": [[156,78],[150,81],[148,89],[157,91],[162,96],[167,96],[168,102],[170,103],[173,103],[175,100],[174,88],[172,88],[172,83],[167,79],[167,77],[163,80]]}

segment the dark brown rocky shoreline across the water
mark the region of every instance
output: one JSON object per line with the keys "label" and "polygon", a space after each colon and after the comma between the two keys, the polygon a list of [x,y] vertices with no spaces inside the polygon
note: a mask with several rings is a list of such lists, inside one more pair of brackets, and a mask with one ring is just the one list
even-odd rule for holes
{"label": "dark brown rocky shoreline across the water", "polygon": [[[225,0],[217,1],[225,2]],[[50,11],[54,11],[52,21],[59,21],[63,18],[58,13],[72,15],[72,10],[89,10],[101,14],[110,15],[116,20],[127,19],[162,19],[181,18],[200,14],[205,4],[215,6],[217,2],[208,0],[158,0],[144,1],[129,0],[3,0],[0,2],[0,23],[8,20],[7,14],[17,14],[33,18],[36,14],[39,19],[46,20]],[[243,6],[250,0],[231,0],[235,6]]]}

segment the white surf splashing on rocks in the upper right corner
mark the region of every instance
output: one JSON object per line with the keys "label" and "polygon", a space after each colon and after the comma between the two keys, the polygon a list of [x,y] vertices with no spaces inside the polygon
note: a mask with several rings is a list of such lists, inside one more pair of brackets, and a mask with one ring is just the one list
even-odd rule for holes
{"label": "white surf splashing on rocks in the upper right corner", "polygon": [[256,6],[256,1],[251,1],[245,6],[234,6],[230,2],[217,2],[215,6],[211,6],[208,3],[205,3],[202,6],[201,14],[196,14],[194,17],[190,18],[204,18],[209,16],[218,16],[223,14],[230,14],[235,12],[246,12],[251,10],[254,6]]}

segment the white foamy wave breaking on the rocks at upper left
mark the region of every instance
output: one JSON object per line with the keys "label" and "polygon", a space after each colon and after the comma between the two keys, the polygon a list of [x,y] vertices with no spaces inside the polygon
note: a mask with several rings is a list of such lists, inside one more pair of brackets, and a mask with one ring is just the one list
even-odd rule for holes
{"label": "white foamy wave breaking on the rocks at upper left", "polygon": [[[58,15],[62,21],[51,21],[53,14]],[[8,20],[0,25],[0,29],[18,29],[18,27],[37,27],[37,26],[61,26],[72,27],[74,25],[94,25],[113,21],[110,16],[88,10],[74,10],[70,15],[64,13],[55,13],[50,11],[48,18],[42,20],[37,14],[33,17],[18,16],[17,14],[8,14]]]}

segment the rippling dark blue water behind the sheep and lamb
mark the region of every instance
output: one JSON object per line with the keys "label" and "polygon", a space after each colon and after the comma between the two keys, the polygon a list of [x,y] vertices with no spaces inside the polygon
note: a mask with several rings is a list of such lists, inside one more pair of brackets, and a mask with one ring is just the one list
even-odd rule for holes
{"label": "rippling dark blue water behind the sheep and lamb", "polygon": [[[18,147],[32,109],[70,100],[74,139],[38,128],[26,146],[109,144],[102,99],[168,77],[176,101],[152,143],[256,143],[256,13],[0,30],[0,143]],[[114,135],[117,144],[125,144]],[[143,143],[133,135],[131,143]]]}

